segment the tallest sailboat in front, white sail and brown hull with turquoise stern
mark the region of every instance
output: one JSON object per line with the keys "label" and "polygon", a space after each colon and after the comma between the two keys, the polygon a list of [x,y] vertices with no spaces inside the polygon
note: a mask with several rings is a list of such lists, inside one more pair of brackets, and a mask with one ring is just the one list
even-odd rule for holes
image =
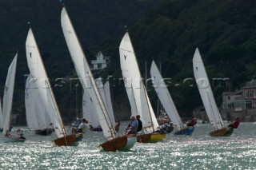
{"label": "tallest sailboat in front, white sail and brown hull with turquoise stern", "polygon": [[86,60],[86,56],[83,53],[82,46],[78,41],[78,37],[74,31],[74,27],[70,21],[70,18],[66,12],[66,8],[62,8],[61,23],[66,44],[70,51],[70,56],[74,62],[74,68],[78,74],[78,78],[82,84],[82,87],[87,93],[94,105],[96,106],[96,113],[98,115],[99,124],[102,126],[102,131],[106,137],[106,142],[100,144],[100,146],[106,151],[126,151],[134,147],[136,143],[135,136],[118,136],[110,121],[110,115],[102,101],[102,97],[98,92],[97,85],[94,77],[90,71],[89,64]]}

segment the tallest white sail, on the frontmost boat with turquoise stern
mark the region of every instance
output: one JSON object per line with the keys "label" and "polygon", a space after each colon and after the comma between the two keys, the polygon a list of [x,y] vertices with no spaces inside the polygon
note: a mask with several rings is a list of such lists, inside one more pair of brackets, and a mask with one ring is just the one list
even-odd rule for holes
{"label": "tallest white sail, on the frontmost boat with turquoise stern", "polygon": [[66,12],[66,8],[63,7],[61,14],[61,23],[64,37],[66,39],[66,44],[70,51],[70,56],[74,63],[74,68],[78,74],[78,78],[82,84],[84,90],[90,95],[90,98],[96,105],[96,110],[98,114],[98,121],[102,126],[104,136],[107,140],[112,140],[117,137],[114,130],[114,125],[110,121],[110,117],[107,113],[106,107],[100,97],[97,89],[97,85],[94,81],[94,77],[90,71],[88,62],[86,61],[86,56],[83,53],[82,46],[78,41],[78,37],[74,31],[70,18]]}

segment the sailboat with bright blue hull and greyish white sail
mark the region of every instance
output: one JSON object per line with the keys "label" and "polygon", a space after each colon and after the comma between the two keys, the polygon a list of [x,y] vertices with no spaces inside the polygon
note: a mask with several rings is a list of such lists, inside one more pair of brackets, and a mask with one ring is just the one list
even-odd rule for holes
{"label": "sailboat with bright blue hull and greyish white sail", "polygon": [[158,98],[160,99],[164,109],[170,120],[172,121],[174,127],[178,128],[177,132],[174,132],[175,135],[190,135],[194,132],[194,126],[186,127],[182,123],[181,117],[178,115],[178,111],[174,105],[174,101],[172,100],[170,93],[167,89],[166,83],[162,78],[161,73],[158,70],[157,65],[152,61],[151,69],[150,69],[152,83],[154,85],[154,89],[158,94]]}

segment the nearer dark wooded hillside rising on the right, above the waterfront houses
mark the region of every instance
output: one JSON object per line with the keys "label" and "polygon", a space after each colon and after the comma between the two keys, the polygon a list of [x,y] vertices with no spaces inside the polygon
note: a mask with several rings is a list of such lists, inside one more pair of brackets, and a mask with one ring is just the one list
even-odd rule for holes
{"label": "nearer dark wooded hillside rising on the right, above the waterfront houses", "polygon": [[[222,91],[238,89],[255,77],[255,5],[254,1],[242,0],[162,0],[130,27],[142,73],[145,61],[148,71],[152,59],[161,62],[163,77],[170,78],[170,93],[182,116],[190,116],[194,108],[202,105],[196,84],[190,80],[194,78],[192,57],[197,46],[218,106]],[[116,57],[116,67],[117,48],[111,43],[108,48]],[[230,81],[217,82],[214,78]],[[154,90],[150,94],[154,105]]]}

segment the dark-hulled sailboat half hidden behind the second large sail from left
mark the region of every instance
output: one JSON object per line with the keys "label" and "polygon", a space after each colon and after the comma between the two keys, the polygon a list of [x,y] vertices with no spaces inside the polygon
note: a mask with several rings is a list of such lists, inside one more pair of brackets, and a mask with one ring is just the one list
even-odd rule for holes
{"label": "dark-hulled sailboat half hidden behind the second large sail from left", "polygon": [[28,128],[34,129],[36,134],[43,136],[53,132],[53,129],[49,128],[50,117],[46,113],[46,107],[42,105],[38,87],[31,74],[26,78],[25,108]]}

